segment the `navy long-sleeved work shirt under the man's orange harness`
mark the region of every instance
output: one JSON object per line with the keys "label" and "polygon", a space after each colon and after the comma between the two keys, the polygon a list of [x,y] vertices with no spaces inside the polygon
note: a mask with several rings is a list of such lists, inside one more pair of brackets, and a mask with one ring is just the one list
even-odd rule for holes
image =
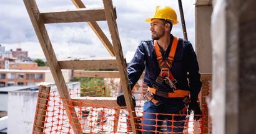
{"label": "navy long-sleeved work shirt under the man's orange harness", "polygon": [[[160,47],[160,51],[164,60],[167,60],[167,57],[169,56],[173,38],[173,35],[170,34],[170,45],[166,51],[163,51]],[[134,57],[128,65],[127,74],[129,77],[129,84],[131,89],[139,80],[140,75],[143,73],[144,69],[144,83],[149,87],[153,87],[155,79],[157,79],[160,73],[153,40],[144,40],[140,42],[137,50],[135,51]],[[200,81],[197,57],[195,55],[192,44],[189,41],[179,38],[174,61],[172,61],[172,67],[170,68],[170,71],[174,78],[177,80],[177,84],[175,84],[176,87],[178,89],[190,91],[190,99],[196,100],[202,83]],[[160,85],[159,91],[172,92],[172,89],[170,89],[169,85],[164,82]],[[155,97],[157,97],[160,102],[164,103],[172,103],[172,100],[179,100],[179,102],[182,101],[182,98],[166,99],[161,96]]]}

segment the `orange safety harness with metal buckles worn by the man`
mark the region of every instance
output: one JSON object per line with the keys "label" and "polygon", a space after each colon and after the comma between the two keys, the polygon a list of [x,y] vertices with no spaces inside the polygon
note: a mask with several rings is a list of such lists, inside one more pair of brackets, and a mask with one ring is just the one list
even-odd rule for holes
{"label": "orange safety harness with metal buckles worn by the man", "polygon": [[[153,84],[153,87],[148,87],[147,94],[144,96],[144,101],[152,101],[156,106],[160,105],[160,102],[157,99],[154,99],[154,95],[162,96],[165,98],[174,98],[174,97],[184,97],[185,104],[189,104],[189,91],[185,91],[182,89],[177,89],[175,84],[177,83],[177,80],[172,75],[170,68],[172,68],[172,61],[174,61],[174,55],[175,51],[178,45],[179,38],[174,37],[172,41],[172,46],[170,48],[170,53],[167,58],[167,60],[164,60],[162,53],[160,52],[160,47],[156,40],[154,40],[154,48],[155,53],[157,56],[157,61],[159,63],[160,73],[157,79],[155,80],[155,83]],[[159,91],[159,86],[165,81],[173,92],[164,92]],[[184,110],[186,110],[186,107],[182,110],[180,110],[179,114],[184,114]]]}

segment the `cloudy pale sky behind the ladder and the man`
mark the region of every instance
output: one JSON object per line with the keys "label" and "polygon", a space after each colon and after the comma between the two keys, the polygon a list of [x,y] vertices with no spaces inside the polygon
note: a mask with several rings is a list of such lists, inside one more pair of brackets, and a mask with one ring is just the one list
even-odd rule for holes
{"label": "cloudy pale sky behind the ladder and the man", "polygon": [[[104,7],[102,0],[82,2],[87,8]],[[40,12],[76,9],[71,0],[36,0],[36,3]],[[150,23],[145,19],[152,16],[156,6],[172,7],[181,22],[177,0],[112,0],[112,3],[116,7],[117,28],[124,55],[127,51],[135,51],[141,40],[151,38]],[[187,37],[192,45],[195,38],[194,3],[195,0],[182,1]],[[97,23],[111,41],[107,22]],[[86,22],[46,24],[46,29],[57,59],[111,56]],[[0,44],[5,50],[22,48],[32,59],[45,59],[22,0],[0,0],[0,32]],[[174,25],[171,33],[183,38],[181,23]]]}

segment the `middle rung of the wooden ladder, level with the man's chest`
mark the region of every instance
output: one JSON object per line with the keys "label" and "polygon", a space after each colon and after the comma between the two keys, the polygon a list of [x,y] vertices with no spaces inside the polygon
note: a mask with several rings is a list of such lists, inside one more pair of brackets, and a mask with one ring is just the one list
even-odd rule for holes
{"label": "middle rung of the wooden ladder, level with the man's chest", "polygon": [[116,58],[59,60],[61,69],[115,69]]}

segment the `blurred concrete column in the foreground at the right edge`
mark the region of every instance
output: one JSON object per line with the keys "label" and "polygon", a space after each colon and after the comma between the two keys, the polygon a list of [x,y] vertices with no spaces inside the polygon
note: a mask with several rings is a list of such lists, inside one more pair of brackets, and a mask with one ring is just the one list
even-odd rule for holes
{"label": "blurred concrete column in the foreground at the right edge", "polygon": [[214,2],[213,133],[256,133],[255,5],[255,0]]}

